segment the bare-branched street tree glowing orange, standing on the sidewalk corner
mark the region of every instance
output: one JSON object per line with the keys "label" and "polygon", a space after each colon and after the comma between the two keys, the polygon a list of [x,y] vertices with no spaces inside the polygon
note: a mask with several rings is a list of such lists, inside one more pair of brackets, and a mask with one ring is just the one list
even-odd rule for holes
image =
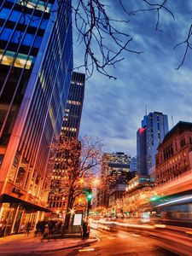
{"label": "bare-branched street tree glowing orange, standing on the sidewalk corner", "polygon": [[53,159],[57,170],[53,176],[57,178],[49,196],[62,195],[67,198],[65,227],[68,228],[73,207],[82,207],[82,201],[78,198],[84,193],[84,187],[90,186],[90,177],[99,170],[102,141],[90,137],[79,140],[61,134],[60,143],[54,143],[51,147],[57,152]]}

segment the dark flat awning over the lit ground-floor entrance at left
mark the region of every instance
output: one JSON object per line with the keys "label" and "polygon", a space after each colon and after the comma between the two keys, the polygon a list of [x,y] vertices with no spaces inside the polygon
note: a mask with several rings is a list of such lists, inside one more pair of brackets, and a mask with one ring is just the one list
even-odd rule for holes
{"label": "dark flat awning over the lit ground-floor entrance at left", "polygon": [[38,205],[32,204],[31,202],[23,201],[20,198],[16,198],[14,196],[6,195],[6,194],[3,194],[0,196],[0,202],[18,203],[29,210],[36,210],[41,212],[52,212],[46,207],[40,207]]}

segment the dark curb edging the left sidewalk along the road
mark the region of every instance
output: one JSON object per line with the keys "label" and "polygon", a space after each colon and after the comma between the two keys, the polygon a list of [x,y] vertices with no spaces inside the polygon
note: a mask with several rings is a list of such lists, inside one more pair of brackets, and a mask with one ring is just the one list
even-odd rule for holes
{"label": "dark curb edging the left sidewalk along the road", "polygon": [[95,241],[87,241],[87,242],[84,242],[84,244],[82,245],[73,245],[71,247],[61,247],[61,248],[55,248],[55,249],[51,249],[51,250],[37,250],[37,251],[23,251],[23,252],[20,252],[20,253],[0,253],[0,255],[9,255],[9,256],[16,256],[16,255],[25,255],[25,254],[30,254],[31,253],[50,253],[50,252],[56,252],[56,251],[61,251],[61,250],[68,250],[68,249],[72,249],[72,248],[75,248],[75,247],[87,247],[89,246],[90,244],[98,241],[98,239],[96,237],[94,237],[93,239],[95,239]]}

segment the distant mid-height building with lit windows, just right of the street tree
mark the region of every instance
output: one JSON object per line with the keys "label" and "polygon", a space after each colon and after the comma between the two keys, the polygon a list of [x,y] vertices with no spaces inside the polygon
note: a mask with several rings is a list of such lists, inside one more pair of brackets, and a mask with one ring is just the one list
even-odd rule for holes
{"label": "distant mid-height building with lit windows, just right of the street tree", "polygon": [[97,207],[108,207],[125,191],[131,179],[131,156],[122,152],[105,153],[102,156],[102,189],[98,189]]}

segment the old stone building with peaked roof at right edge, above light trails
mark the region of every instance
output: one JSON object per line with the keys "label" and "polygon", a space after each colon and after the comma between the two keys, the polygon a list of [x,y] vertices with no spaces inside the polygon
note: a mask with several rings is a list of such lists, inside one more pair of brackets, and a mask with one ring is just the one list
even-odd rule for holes
{"label": "old stone building with peaked roof at right edge, above light trails", "polygon": [[[172,186],[174,182],[176,193],[179,190],[182,192],[184,189],[191,189],[191,185],[187,185],[186,183],[181,183],[179,186],[183,186],[183,189],[179,189],[178,183],[176,183],[179,179],[182,180],[182,177],[187,177],[188,172],[190,176],[191,171],[192,123],[180,121],[166,134],[164,141],[158,147],[155,167],[158,191],[160,192],[162,189],[162,193],[173,193],[174,189]],[[190,178],[189,184],[191,184]]]}

